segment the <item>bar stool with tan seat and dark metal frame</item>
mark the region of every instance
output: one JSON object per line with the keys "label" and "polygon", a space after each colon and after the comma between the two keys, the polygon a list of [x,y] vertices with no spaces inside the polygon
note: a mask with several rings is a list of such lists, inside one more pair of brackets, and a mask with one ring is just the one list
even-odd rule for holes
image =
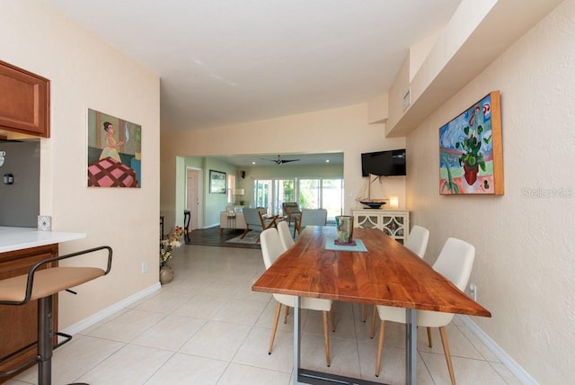
{"label": "bar stool with tan seat and dark metal frame", "polygon": [[[77,255],[93,253],[99,250],[108,250],[108,264],[106,270],[99,267],[50,267],[42,269],[47,264],[71,258]],[[34,264],[30,272],[0,281],[0,305],[21,306],[31,300],[38,300],[38,355],[16,368],[0,372],[0,376],[8,376],[18,372],[31,363],[38,362],[38,384],[50,385],[52,382],[52,337],[65,336],[67,340],[72,336],[55,333],[52,325],[52,295],[59,291],[70,291],[70,288],[102,277],[111,270],[110,246],[99,246],[77,253],[61,255],[45,259]],[[75,294],[74,291],[70,291]],[[66,341],[67,342],[67,341]],[[65,342],[65,343],[66,343]],[[59,344],[62,345],[62,344]]]}

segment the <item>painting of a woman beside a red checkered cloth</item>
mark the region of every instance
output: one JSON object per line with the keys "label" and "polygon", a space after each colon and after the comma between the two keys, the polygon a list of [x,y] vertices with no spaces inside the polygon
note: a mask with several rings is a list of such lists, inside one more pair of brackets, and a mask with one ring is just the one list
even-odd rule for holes
{"label": "painting of a woman beside a red checkered cloth", "polygon": [[88,109],[88,187],[141,187],[142,127]]}

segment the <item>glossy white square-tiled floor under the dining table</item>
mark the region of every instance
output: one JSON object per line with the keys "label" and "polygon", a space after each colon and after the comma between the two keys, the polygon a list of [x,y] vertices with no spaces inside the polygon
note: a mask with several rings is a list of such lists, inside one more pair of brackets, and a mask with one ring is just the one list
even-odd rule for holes
{"label": "glossy white square-tiled floor under the dining table", "polygon": [[[279,323],[268,354],[276,302],[251,290],[263,272],[261,251],[182,246],[173,258],[170,282],[149,297],[77,334],[55,352],[53,383],[98,384],[289,384],[292,327]],[[403,326],[387,323],[380,377],[374,375],[376,338],[361,322],[362,306],[336,302],[331,333],[332,366],[325,366],[320,312],[304,312],[302,365],[389,384],[404,383]],[[283,312],[282,312],[283,316]],[[447,327],[459,384],[518,384],[519,381],[457,319]],[[418,383],[448,384],[438,331],[429,348],[418,336]],[[36,369],[10,385],[35,384]]]}

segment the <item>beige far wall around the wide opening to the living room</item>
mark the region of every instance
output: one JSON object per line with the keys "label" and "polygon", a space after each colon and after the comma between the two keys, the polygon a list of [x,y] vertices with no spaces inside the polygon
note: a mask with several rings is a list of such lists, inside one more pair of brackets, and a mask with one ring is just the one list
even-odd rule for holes
{"label": "beige far wall around the wide opening to the living room", "polygon": [[[163,132],[161,144],[162,214],[168,218],[168,223],[173,223],[170,220],[179,220],[181,217],[179,213],[183,210],[181,203],[176,202],[177,166],[175,159],[178,156],[298,152],[343,153],[344,211],[349,214],[351,209],[360,206],[355,201],[355,196],[363,184],[361,153],[404,148],[405,145],[404,138],[385,139],[383,124],[368,124],[367,119],[367,104],[358,104],[217,129]],[[181,175],[180,172],[178,174]],[[405,179],[386,178],[384,193],[399,196],[400,207],[404,207]]]}

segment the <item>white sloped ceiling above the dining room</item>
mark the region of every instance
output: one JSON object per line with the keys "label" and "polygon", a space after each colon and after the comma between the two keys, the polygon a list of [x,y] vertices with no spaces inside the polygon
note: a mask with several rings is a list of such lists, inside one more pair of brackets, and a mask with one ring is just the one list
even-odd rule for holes
{"label": "white sloped ceiling above the dining room", "polygon": [[461,0],[44,0],[161,79],[162,130],[366,103]]}

